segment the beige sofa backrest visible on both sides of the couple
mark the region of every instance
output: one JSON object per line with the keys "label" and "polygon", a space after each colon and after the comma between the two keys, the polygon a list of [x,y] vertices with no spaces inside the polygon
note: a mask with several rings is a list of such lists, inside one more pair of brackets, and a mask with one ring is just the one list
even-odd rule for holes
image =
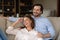
{"label": "beige sofa backrest visible on both sides of the couple", "polygon": [[[60,32],[60,17],[47,17],[53,24],[56,34]],[[4,18],[0,18],[0,28],[2,28],[4,31],[6,31],[6,28],[10,26],[13,22],[8,21]],[[17,27],[23,26],[22,24],[18,24]],[[13,40],[14,36],[8,35],[9,40]]]}

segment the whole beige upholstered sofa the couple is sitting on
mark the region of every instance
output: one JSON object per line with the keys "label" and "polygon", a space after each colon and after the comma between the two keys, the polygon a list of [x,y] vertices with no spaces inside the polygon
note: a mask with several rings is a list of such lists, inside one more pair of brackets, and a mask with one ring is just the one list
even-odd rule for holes
{"label": "whole beige upholstered sofa the couple is sitting on", "polygon": [[[56,31],[56,35],[54,37],[54,40],[60,40],[60,17],[47,17],[51,23],[53,24],[55,31]],[[3,32],[6,33],[6,28],[8,26],[10,26],[13,22],[5,19],[5,18],[0,18],[0,28],[3,30]],[[16,25],[17,27],[23,26],[21,23]],[[9,35],[6,34],[8,40],[14,40],[14,35]]]}

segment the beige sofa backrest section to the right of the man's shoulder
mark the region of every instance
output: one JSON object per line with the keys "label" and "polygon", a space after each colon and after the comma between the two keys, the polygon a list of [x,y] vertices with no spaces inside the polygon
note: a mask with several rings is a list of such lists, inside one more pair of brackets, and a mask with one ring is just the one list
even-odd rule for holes
{"label": "beige sofa backrest section to the right of the man's shoulder", "polygon": [[48,19],[53,24],[55,31],[59,32],[60,31],[60,17],[48,17]]}

